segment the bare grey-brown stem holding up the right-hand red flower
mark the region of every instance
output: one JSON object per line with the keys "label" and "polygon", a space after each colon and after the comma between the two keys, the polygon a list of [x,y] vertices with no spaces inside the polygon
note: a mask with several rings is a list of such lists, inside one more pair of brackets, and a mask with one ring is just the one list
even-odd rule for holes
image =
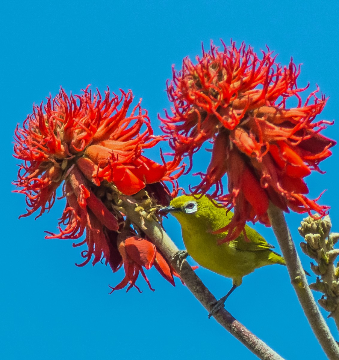
{"label": "bare grey-brown stem holding up the right-hand red flower", "polygon": [[329,327],[320,314],[319,308],[308,287],[301,261],[294,246],[292,237],[287,227],[283,212],[272,203],[269,206],[268,215],[272,229],[286,261],[288,273],[297,293],[299,302],[304,310],[313,333],[318,339],[322,349],[330,360],[339,359],[339,347],[334,340]]}

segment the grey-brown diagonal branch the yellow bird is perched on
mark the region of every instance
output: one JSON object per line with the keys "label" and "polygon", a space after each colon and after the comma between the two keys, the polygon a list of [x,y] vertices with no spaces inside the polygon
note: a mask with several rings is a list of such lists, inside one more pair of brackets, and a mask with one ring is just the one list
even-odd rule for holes
{"label": "grey-brown diagonal branch the yellow bird is perched on", "polygon": [[[175,254],[179,249],[173,241],[162,229],[161,225],[155,220],[147,220],[146,212],[136,212],[137,204],[132,197],[124,197],[122,206],[125,209],[127,217],[136,225],[143,225],[148,238],[150,238],[161,253],[171,262],[175,271],[180,275],[187,288],[200,301],[207,311],[212,310],[212,304],[216,302],[216,298],[211,294],[209,289],[205,287],[200,278],[194,273],[191,266],[186,260],[181,264],[175,261]],[[141,216],[143,216],[143,224],[141,224]],[[146,228],[146,229],[145,229]],[[215,320],[230,332],[235,338],[243,343],[250,351],[262,360],[283,360],[274,350],[267,346],[262,340],[252,334],[238,320],[236,320],[227,310],[220,309],[213,315]]]}

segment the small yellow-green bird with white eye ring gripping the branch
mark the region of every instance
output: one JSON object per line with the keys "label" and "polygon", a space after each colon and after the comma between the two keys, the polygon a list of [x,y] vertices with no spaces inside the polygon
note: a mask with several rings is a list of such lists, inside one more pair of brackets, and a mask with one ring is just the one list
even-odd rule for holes
{"label": "small yellow-green bird with white eye ring gripping the branch", "polygon": [[233,213],[229,211],[225,215],[225,209],[216,207],[205,195],[201,198],[179,196],[160,212],[169,212],[180,222],[187,252],[198,264],[233,280],[232,288],[216,303],[209,317],[224,306],[227,297],[241,285],[243,276],[265,265],[286,265],[284,258],[271,250],[274,246],[248,225],[245,230],[249,242],[244,240],[242,233],[233,241],[217,245],[218,240],[226,237],[227,231],[212,232],[224,228]]}

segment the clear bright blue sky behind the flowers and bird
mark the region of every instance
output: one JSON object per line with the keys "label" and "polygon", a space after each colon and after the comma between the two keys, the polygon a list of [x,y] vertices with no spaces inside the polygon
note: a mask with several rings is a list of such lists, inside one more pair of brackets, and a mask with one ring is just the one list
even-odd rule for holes
{"label": "clear bright blue sky behind the flowers and bird", "polygon": [[[13,132],[60,85],[77,94],[88,84],[104,91],[132,89],[148,109],[155,128],[157,114],[169,107],[165,82],[171,66],[201,54],[210,40],[230,38],[251,44],[256,51],[267,44],[279,53],[278,62],[303,63],[298,85],[316,84],[330,99],[319,119],[338,114],[338,3],[326,1],[16,1],[1,11],[1,111],[4,135],[2,201],[3,235],[0,296],[0,357],[2,359],[255,359],[213,319],[179,282],[174,288],[153,269],[143,290],[108,295],[123,271],[112,274],[97,264],[78,268],[79,248],[72,241],[46,240],[55,231],[64,202],[58,201],[37,220],[27,217],[24,196],[12,193],[17,160],[12,157]],[[324,134],[339,140],[339,124]],[[157,130],[160,133],[159,130]],[[164,147],[163,147],[164,148]],[[333,231],[339,231],[338,147],[321,165],[325,175],[307,178],[312,198],[328,189],[320,203],[331,206]],[[166,148],[164,148],[166,151]],[[168,149],[167,149],[168,150]],[[197,155],[192,172],[205,170],[209,154]],[[146,152],[159,159],[159,149]],[[187,175],[180,184],[196,184]],[[299,249],[297,228],[303,216],[287,215]],[[180,227],[165,221],[169,235],[183,248]],[[276,244],[271,229],[256,225]],[[83,248],[84,249],[84,248]],[[279,250],[278,250],[279,251]],[[301,253],[301,251],[299,251]],[[309,262],[301,254],[303,266]],[[193,261],[191,262],[193,264]],[[231,280],[198,269],[215,294],[223,296]],[[315,281],[315,277],[311,279]],[[318,298],[318,294],[315,294]],[[299,306],[287,270],[270,266],[244,278],[227,300],[226,309],[286,359],[326,359]],[[325,316],[327,314],[325,313]],[[328,324],[338,340],[333,320]]]}

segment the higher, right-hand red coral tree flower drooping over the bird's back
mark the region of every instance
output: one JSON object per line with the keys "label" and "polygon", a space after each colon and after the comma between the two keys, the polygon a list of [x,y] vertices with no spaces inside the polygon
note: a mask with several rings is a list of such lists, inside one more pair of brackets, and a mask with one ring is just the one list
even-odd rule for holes
{"label": "higher, right-hand red coral tree flower drooping over the bird's back", "polygon": [[[224,44],[223,44],[224,45]],[[219,51],[213,44],[203,50],[194,65],[183,60],[180,72],[173,69],[167,84],[173,114],[162,119],[175,156],[188,156],[209,140],[211,162],[193,194],[205,194],[229,209],[234,207],[225,241],[235,239],[246,221],[269,226],[269,200],[284,211],[315,210],[325,215],[327,206],[308,199],[304,177],[331,155],[335,141],[320,134],[330,124],[320,120],[326,98],[313,91],[303,103],[297,87],[300,67],[292,59],[286,67],[275,62],[272,52],[261,59],[251,47],[235,43]],[[294,107],[288,104],[294,101]],[[190,168],[191,168],[190,166]],[[189,170],[190,170],[189,168]],[[227,174],[228,194],[221,183]],[[245,234],[246,235],[246,234]]]}

